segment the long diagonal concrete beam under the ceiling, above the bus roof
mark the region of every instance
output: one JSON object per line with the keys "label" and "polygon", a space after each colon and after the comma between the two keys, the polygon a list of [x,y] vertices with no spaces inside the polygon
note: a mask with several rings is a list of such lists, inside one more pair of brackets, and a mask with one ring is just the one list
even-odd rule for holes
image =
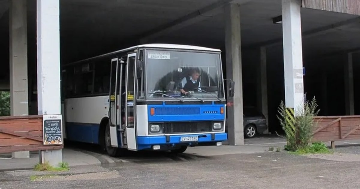
{"label": "long diagonal concrete beam under the ceiling, above the bus roof", "polygon": [[162,26],[154,28],[153,30],[142,33],[139,37],[141,38],[140,43],[143,43],[144,41],[148,41],[149,39],[154,39],[156,37],[165,35],[172,31],[179,30],[181,28],[190,26],[194,23],[201,22],[204,19],[208,19],[209,17],[213,17],[217,14],[220,14],[221,13],[220,8],[228,3],[237,3],[240,5],[247,3],[249,1],[251,0],[219,0],[216,3],[205,6],[202,9],[195,10],[194,12],[184,15],[183,17],[180,17],[172,22],[163,24]]}

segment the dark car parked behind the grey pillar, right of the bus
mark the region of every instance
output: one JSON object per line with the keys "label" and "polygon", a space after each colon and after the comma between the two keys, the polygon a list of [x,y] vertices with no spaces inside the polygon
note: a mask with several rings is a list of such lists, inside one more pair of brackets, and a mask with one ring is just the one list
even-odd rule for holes
{"label": "dark car parked behind the grey pillar, right of the bus", "polygon": [[[265,116],[258,112],[254,107],[244,107],[244,137],[254,138],[267,130]],[[226,124],[227,125],[227,124]],[[228,127],[225,127],[228,132]]]}

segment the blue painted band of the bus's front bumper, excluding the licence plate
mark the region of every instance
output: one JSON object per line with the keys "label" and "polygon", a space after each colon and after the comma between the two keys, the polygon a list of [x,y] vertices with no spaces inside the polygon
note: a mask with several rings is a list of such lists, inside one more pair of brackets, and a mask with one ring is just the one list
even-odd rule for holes
{"label": "blue painted band of the bus's front bumper, excluding the licence plate", "polygon": [[[216,133],[215,140],[211,140],[211,134],[201,134],[206,137],[199,137],[198,142],[216,142],[216,141],[225,141],[228,140],[227,133]],[[152,148],[152,145],[162,145],[162,144],[180,144],[180,137],[181,136],[199,136],[191,135],[191,134],[184,134],[184,135],[170,135],[170,142],[166,142],[166,136],[138,136],[138,150]]]}

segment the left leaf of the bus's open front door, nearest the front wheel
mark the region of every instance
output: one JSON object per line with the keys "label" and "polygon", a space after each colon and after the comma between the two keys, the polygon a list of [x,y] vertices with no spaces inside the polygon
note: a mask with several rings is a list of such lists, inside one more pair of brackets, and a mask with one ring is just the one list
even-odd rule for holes
{"label": "left leaf of the bus's open front door, nearest the front wheel", "polygon": [[117,126],[120,125],[120,119],[118,114],[120,113],[119,109],[119,79],[120,73],[118,72],[120,68],[119,59],[111,59],[111,71],[110,71],[110,94],[109,94],[109,118],[110,118],[110,139],[111,145],[113,147],[118,147],[117,140]]}

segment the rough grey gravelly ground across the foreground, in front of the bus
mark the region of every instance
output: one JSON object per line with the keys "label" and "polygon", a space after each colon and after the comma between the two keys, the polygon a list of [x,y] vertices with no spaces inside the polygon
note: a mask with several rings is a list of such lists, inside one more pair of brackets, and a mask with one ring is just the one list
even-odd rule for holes
{"label": "rough grey gravelly ground across the foreground, in front of the bus", "polygon": [[[30,176],[39,175],[38,172],[6,172],[0,173],[0,189],[359,188],[360,162],[354,161],[360,159],[358,155],[309,157],[266,152],[193,157],[183,161],[129,160],[102,167],[73,167],[64,175],[36,181],[30,181]],[[346,158],[348,161],[339,161]]]}

